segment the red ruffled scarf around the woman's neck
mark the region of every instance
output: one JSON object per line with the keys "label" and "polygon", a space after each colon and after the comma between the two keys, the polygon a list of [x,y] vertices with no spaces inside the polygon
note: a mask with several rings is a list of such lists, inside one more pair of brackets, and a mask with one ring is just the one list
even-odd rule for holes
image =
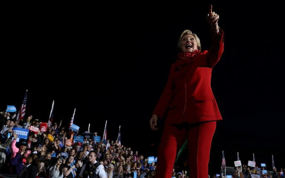
{"label": "red ruffled scarf around the woman's neck", "polygon": [[185,66],[188,66],[191,63],[191,59],[194,58],[200,52],[201,50],[194,50],[191,53],[185,53],[185,52],[178,53],[177,59],[175,62],[176,71],[181,70]]}

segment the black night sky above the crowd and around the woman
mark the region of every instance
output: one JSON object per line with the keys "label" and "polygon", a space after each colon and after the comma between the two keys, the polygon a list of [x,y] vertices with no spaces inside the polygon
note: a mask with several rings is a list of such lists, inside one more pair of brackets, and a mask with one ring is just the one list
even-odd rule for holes
{"label": "black night sky above the crowd and around the woman", "polygon": [[29,89],[27,114],[47,121],[54,99],[56,121],[63,116],[67,125],[76,107],[74,122],[81,128],[90,122],[91,131],[103,134],[107,119],[111,140],[121,125],[126,146],[154,155],[160,135],[151,131],[149,119],[175,61],[176,42],[190,29],[202,50],[209,49],[210,4],[225,32],[224,53],[212,75],[223,121],[213,138],[210,173],[219,172],[222,150],[227,166],[239,151],[244,164],[254,152],[268,170],[271,154],[277,167],[285,167],[284,15],[274,2],[140,5],[141,10],[114,5],[101,8],[103,13],[70,9],[5,17],[0,107],[19,107]]}

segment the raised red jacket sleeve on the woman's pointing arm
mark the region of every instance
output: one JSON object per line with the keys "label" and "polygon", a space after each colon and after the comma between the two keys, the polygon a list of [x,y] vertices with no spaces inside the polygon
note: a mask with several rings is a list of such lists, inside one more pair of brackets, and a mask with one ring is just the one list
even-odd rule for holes
{"label": "raised red jacket sleeve on the woman's pointing arm", "polygon": [[219,29],[220,34],[211,32],[212,46],[207,53],[207,62],[210,68],[213,68],[220,60],[224,51],[224,31]]}

